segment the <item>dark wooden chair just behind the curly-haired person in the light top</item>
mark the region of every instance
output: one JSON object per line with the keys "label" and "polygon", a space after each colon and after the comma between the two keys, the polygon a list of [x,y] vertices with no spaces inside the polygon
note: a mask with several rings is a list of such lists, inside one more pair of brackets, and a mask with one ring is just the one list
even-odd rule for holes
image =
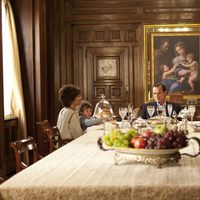
{"label": "dark wooden chair just behind the curly-haired person in the light top", "polygon": [[41,134],[47,139],[49,153],[63,146],[58,127],[51,126],[48,120],[37,122],[37,125],[40,127]]}

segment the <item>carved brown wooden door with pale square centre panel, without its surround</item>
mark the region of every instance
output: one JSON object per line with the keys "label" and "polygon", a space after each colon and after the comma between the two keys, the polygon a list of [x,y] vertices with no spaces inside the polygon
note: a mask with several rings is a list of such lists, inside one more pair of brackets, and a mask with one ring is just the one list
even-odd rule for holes
{"label": "carved brown wooden door with pale square centre panel, without its surround", "polygon": [[86,47],[87,99],[95,105],[104,94],[118,116],[118,107],[133,102],[133,76],[128,46]]}

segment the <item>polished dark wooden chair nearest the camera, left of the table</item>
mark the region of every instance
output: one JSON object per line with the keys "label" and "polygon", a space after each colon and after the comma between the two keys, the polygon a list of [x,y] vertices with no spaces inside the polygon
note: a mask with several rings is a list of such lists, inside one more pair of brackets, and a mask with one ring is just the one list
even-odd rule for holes
{"label": "polished dark wooden chair nearest the camera, left of the table", "polygon": [[[27,137],[10,143],[16,160],[16,173],[37,162],[42,156],[38,153],[33,137]],[[26,160],[26,162],[24,161]]]}

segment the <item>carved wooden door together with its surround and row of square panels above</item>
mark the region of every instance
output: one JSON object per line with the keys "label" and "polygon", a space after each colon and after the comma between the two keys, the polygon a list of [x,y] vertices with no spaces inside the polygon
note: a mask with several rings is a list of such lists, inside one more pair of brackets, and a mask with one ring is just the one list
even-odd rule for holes
{"label": "carved wooden door together with its surround and row of square panels above", "polygon": [[[73,67],[84,99],[94,105],[102,93],[111,103],[114,113],[118,107],[135,103],[134,50],[138,48],[136,24],[97,24],[73,26]],[[113,63],[113,66],[110,62]],[[100,65],[115,69],[111,76],[99,76]]]}

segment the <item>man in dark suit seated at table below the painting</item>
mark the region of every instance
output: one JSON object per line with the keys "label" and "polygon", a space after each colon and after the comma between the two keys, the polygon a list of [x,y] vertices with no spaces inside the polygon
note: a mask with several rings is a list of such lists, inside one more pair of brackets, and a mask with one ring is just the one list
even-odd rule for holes
{"label": "man in dark suit seated at table below the painting", "polygon": [[[167,90],[164,85],[162,85],[160,83],[154,85],[153,86],[153,98],[155,101],[145,103],[142,106],[141,117],[143,119],[150,118],[150,115],[148,114],[148,111],[147,111],[148,106],[154,106],[154,112],[153,112],[152,117],[158,115],[159,109],[162,110],[162,115],[169,117],[169,112],[168,112],[169,104],[171,104],[171,106],[172,106],[171,115],[173,112],[175,112],[178,115],[180,110],[182,109],[181,105],[166,101],[166,96],[167,96]],[[170,117],[171,117],[171,115],[170,115]]]}

